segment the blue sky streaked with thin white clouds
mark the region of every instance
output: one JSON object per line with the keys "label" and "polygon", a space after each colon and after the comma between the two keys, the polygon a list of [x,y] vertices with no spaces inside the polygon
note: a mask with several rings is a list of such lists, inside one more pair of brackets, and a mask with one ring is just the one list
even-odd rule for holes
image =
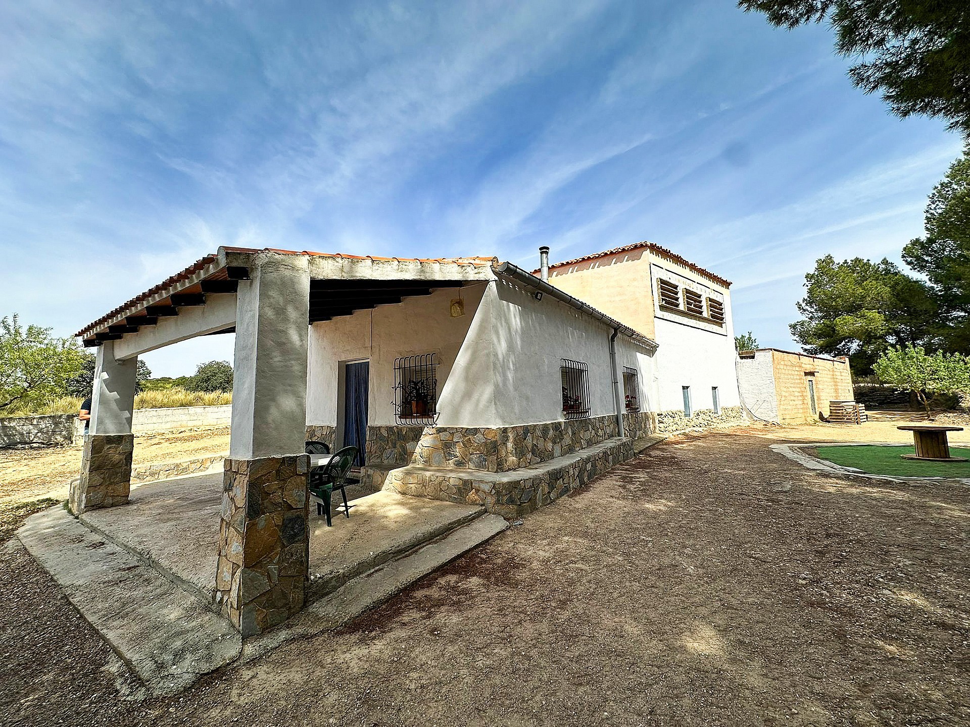
{"label": "blue sky streaked with thin white clouds", "polygon": [[4,3],[0,315],[68,335],[219,244],[530,267],[649,239],[792,347],[816,258],[898,260],[960,151],[831,46],[731,0]]}

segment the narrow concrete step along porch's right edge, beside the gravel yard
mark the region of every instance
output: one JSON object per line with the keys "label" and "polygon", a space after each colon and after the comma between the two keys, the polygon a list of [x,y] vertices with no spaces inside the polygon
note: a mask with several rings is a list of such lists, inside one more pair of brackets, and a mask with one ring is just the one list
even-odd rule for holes
{"label": "narrow concrete step along porch's right edge, beside the gravel yard", "polygon": [[436,540],[352,579],[274,630],[246,640],[241,658],[248,661],[291,639],[338,628],[491,540],[507,527],[508,522],[498,515],[483,515],[456,527]]}

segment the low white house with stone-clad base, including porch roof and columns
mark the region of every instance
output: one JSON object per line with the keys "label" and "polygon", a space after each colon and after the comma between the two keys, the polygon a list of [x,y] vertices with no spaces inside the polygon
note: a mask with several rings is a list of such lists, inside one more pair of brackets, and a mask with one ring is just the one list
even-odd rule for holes
{"label": "low white house with stone-clad base, including porch roof and columns", "polygon": [[243,633],[302,608],[307,439],[365,482],[515,516],[630,458],[657,343],[494,258],[222,247],[78,332],[97,348],[75,513],[128,501],[138,357],[235,332],[215,602]]}

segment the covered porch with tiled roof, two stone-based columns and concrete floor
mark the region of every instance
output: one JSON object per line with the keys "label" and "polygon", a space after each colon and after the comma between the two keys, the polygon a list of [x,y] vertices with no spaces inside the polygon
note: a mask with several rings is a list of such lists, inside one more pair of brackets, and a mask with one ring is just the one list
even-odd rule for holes
{"label": "covered porch with tiled roof, two stone-based columns and concrete floor", "polygon": [[[373,492],[328,528],[307,493],[305,440],[320,438],[307,427],[313,324],[460,288],[491,275],[491,262],[220,248],[129,300],[78,333],[97,347],[97,366],[72,512],[208,601],[243,637],[281,623],[381,558],[484,515],[480,507]],[[224,472],[132,490],[138,357],[227,332],[236,341]]]}

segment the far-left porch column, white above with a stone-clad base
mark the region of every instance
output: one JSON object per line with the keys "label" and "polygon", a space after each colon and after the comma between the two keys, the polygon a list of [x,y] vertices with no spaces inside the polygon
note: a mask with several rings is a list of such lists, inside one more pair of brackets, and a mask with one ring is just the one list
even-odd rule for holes
{"label": "far-left porch column, white above with a stone-clad base", "polygon": [[135,438],[131,417],[135,408],[138,357],[114,360],[114,342],[98,347],[91,395],[91,425],[84,437],[81,478],[71,485],[70,506],[85,510],[128,502]]}

